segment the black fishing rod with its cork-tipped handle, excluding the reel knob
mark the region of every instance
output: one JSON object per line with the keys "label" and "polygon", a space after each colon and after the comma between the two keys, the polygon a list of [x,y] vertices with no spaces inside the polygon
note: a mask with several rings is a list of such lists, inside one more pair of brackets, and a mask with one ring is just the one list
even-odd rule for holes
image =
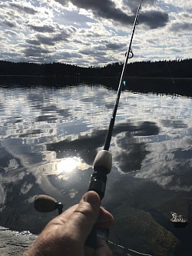
{"label": "black fishing rod with its cork-tipped handle, excluding the reel knob", "polygon": [[[93,164],[94,173],[91,175],[91,181],[89,183],[88,191],[96,191],[100,196],[101,200],[104,198],[104,192],[105,192],[106,183],[107,183],[107,175],[110,173],[111,167],[112,167],[112,156],[108,150],[111,143],[112,133],[114,129],[114,121],[118,111],[118,104],[121,96],[121,91],[124,84],[124,76],[127,70],[127,62],[129,58],[133,58],[134,56],[131,50],[131,45],[133,42],[136,25],[138,25],[138,15],[141,10],[142,1],[143,0],[140,1],[140,4],[137,8],[137,13],[134,18],[134,25],[131,32],[131,39],[125,55],[125,61],[124,61],[123,69],[121,72],[121,78],[118,85],[118,94],[114,104],[114,110],[111,116],[111,121],[108,127],[108,133],[104,141],[104,149],[101,151],[98,151],[98,154],[94,158],[94,164]],[[91,231],[91,234],[89,234],[84,244],[86,256],[94,255],[94,251],[97,249],[97,232],[98,232],[97,224],[95,224]]]}

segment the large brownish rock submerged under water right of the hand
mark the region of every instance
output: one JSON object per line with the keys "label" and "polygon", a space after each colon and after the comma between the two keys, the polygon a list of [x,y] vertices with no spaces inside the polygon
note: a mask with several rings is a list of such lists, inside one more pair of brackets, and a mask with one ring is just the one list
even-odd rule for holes
{"label": "large brownish rock submerged under water right of the hand", "polygon": [[113,214],[115,224],[111,239],[114,242],[156,256],[174,255],[178,239],[158,224],[149,212],[123,205]]}

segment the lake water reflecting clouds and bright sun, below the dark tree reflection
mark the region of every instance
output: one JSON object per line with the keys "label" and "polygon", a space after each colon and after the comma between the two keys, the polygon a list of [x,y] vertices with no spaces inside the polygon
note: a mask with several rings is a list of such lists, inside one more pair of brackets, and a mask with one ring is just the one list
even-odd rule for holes
{"label": "lake water reflecting clouds and bright sun, below the dark tree reflection", "polygon": [[[37,194],[68,208],[88,189],[116,91],[14,83],[20,85],[9,80],[0,88],[0,225],[38,233],[57,212],[36,212]],[[153,255],[190,255],[191,116],[191,98],[122,92],[103,200],[116,220],[111,241]],[[186,215],[187,228],[174,228],[170,211]]]}

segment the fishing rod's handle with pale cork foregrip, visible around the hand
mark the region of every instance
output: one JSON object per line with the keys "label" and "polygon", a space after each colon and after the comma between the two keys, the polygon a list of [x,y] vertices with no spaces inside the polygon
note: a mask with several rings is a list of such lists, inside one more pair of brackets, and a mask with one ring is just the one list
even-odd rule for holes
{"label": "fishing rod's handle with pale cork foregrip, visible around the hand", "polygon": [[[107,175],[111,171],[111,166],[111,153],[107,150],[98,151],[98,154],[94,158],[94,173],[91,175],[91,181],[89,183],[88,191],[97,192],[101,200],[104,198]],[[85,256],[94,256],[95,251],[98,248],[97,234],[97,224],[94,224],[94,227],[92,228],[91,233],[88,235],[88,238],[84,244]]]}

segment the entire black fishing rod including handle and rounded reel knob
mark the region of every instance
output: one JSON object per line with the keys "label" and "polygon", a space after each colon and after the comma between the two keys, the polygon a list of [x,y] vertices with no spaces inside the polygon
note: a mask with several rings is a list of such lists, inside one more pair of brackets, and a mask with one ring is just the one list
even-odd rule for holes
{"label": "entire black fishing rod including handle and rounded reel knob", "polygon": [[[135,31],[136,25],[138,25],[138,15],[141,10],[142,2],[143,0],[140,1],[140,4],[137,8],[137,13],[134,18],[134,25],[131,32],[131,39],[125,55],[125,61],[124,61],[123,69],[121,72],[121,78],[118,85],[117,98],[114,104],[114,110],[113,110],[111,121],[108,127],[108,133],[104,141],[104,149],[101,151],[98,151],[98,154],[94,158],[94,163],[93,163],[94,173],[91,175],[91,181],[89,182],[88,191],[96,191],[101,200],[104,198],[104,193],[105,193],[105,188],[107,183],[107,175],[111,172],[112,155],[108,150],[110,147],[112,133],[114,129],[115,117],[118,111],[118,103],[120,100],[121,91],[124,84],[124,76],[127,69],[127,62],[129,58],[133,58],[134,56],[131,50],[131,45],[134,38],[134,31]],[[62,204],[58,203],[57,201],[55,201],[54,198],[48,197],[47,195],[40,195],[38,196],[38,198],[35,199],[35,209],[37,211],[43,211],[43,212],[53,211],[55,209],[58,209],[58,213],[61,214]],[[105,237],[106,235],[106,240],[108,240],[107,233],[102,235],[103,237]],[[97,249],[97,236],[98,236],[98,228],[97,228],[97,224],[95,224],[84,244],[85,256],[94,256],[95,250]]]}

